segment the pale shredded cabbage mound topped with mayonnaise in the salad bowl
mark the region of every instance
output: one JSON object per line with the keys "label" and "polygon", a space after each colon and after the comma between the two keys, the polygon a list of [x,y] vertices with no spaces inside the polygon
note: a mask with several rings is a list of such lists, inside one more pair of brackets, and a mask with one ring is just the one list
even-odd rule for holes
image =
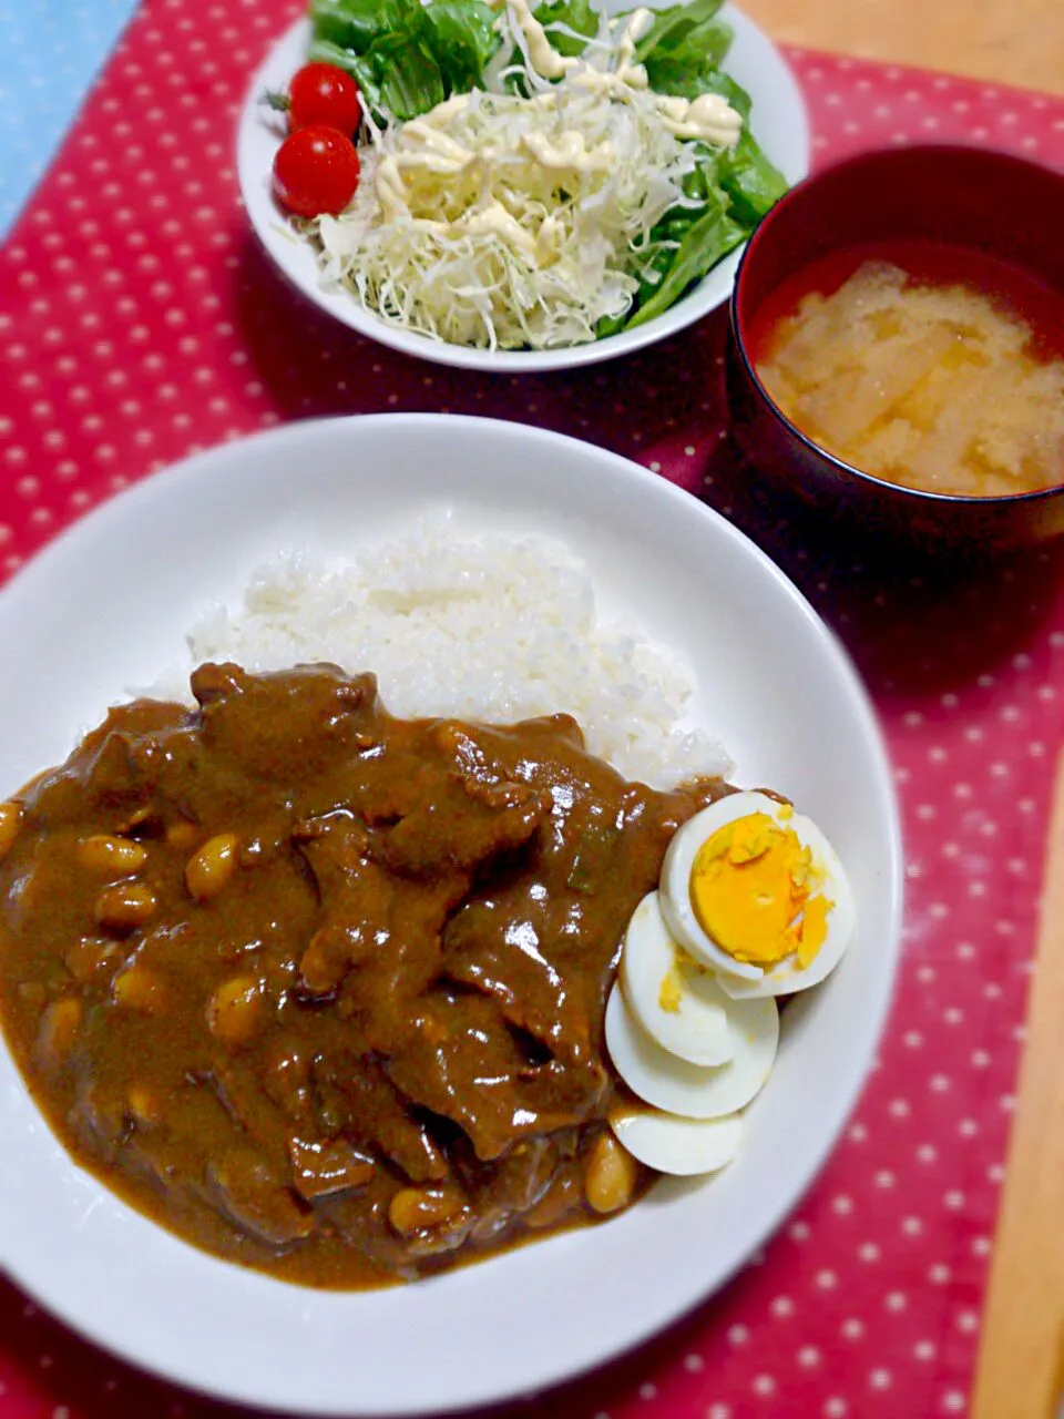
{"label": "pale shredded cabbage mound topped with mayonnaise in the salad bowl", "polygon": [[603,18],[548,84],[508,18],[531,96],[474,89],[404,123],[370,119],[350,207],[314,228],[326,280],[403,329],[481,349],[583,343],[624,316],[670,245],[651,230],[692,206],[699,145],[661,95],[624,81],[630,23]]}

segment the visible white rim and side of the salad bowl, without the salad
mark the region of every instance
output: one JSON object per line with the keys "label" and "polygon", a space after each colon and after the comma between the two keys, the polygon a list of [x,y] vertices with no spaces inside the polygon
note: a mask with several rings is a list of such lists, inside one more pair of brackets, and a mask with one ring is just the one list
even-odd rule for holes
{"label": "visible white rim and side of the salad bowl, without the salad", "polygon": [[[647,0],[648,7],[655,10],[668,3],[670,0]],[[606,0],[606,9],[630,9],[630,0]],[[724,70],[750,95],[753,135],[787,182],[800,182],[809,172],[810,140],[806,105],[797,81],[783,55],[750,18],[732,4],[725,6],[721,14],[735,30],[735,43]],[[309,241],[295,234],[271,193],[274,155],[284,138],[284,125],[261,99],[267,92],[287,89],[292,74],[306,61],[309,38],[309,21],[298,20],[271,50],[251,81],[240,121],[237,170],[247,214],[267,255],[305,297],[343,325],[406,355],[460,369],[506,375],[519,370],[573,369],[628,355],[685,329],[724,305],[731,295],[743,247],[729,253],[682,299],[645,325],[586,345],[549,350],[470,349],[403,331],[380,319],[350,292],[325,281]]]}

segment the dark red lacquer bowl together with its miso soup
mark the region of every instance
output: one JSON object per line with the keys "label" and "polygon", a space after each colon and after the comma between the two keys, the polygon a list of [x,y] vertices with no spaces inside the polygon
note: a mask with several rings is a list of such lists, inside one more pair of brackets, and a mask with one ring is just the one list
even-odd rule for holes
{"label": "dark red lacquer bowl together with its miso soup", "polygon": [[853,529],[1000,551],[1064,529],[1064,176],[861,153],[762,223],[729,406],[760,485]]}

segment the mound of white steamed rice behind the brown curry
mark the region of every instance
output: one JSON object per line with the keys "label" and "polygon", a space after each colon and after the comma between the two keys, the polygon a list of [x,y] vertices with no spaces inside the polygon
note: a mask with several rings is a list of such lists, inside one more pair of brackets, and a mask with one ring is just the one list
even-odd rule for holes
{"label": "mound of white steamed rice behind the brown curry", "polygon": [[301,551],[261,566],[244,604],[214,607],[189,644],[197,664],[372,670],[403,717],[505,724],[566,711],[593,753],[655,786],[732,766],[718,739],[681,728],[689,667],[604,624],[587,568],[545,538],[478,539],[444,518],[346,563]]}

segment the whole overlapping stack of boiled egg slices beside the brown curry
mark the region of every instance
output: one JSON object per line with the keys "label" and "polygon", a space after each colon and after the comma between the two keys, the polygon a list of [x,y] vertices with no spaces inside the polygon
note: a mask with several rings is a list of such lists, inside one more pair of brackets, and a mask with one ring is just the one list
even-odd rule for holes
{"label": "whole overlapping stack of boiled egg slices beside the brown curry", "polygon": [[606,1047],[638,1100],[610,1112],[621,1145],[658,1172],[731,1162],[776,1059],[773,996],[823,981],[853,934],[843,864],[790,803],[729,793],[684,823],[606,1006]]}

